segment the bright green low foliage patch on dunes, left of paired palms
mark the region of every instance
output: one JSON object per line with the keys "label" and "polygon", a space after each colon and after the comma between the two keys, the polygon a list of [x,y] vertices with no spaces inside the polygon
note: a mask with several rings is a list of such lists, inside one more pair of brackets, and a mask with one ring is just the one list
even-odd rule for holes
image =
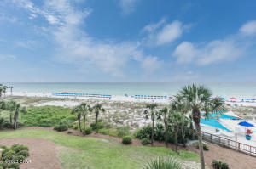
{"label": "bright green low foliage patch on dunes, left of paired palms", "polygon": [[56,106],[29,107],[27,113],[22,115],[25,127],[55,127],[61,122],[72,124],[76,115],[70,114],[70,109]]}

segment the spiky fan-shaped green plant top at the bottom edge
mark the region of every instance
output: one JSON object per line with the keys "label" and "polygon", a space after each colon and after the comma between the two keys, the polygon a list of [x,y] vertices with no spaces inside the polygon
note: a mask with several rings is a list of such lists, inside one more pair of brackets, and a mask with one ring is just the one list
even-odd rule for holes
{"label": "spiky fan-shaped green plant top at the bottom edge", "polygon": [[159,157],[157,159],[151,160],[143,169],[182,169],[182,165],[173,157]]}

